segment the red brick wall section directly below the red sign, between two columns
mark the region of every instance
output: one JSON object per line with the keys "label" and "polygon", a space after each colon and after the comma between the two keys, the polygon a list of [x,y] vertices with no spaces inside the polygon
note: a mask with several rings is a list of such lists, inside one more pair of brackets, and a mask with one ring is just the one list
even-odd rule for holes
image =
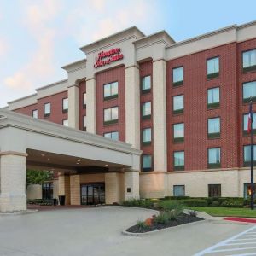
{"label": "red brick wall section directly below the red sign, between two columns", "polygon": [[[103,85],[118,81],[118,98],[104,101]],[[117,124],[104,125],[104,109],[119,107]],[[96,74],[96,134],[119,131],[119,140],[125,142],[125,67],[116,67]]]}

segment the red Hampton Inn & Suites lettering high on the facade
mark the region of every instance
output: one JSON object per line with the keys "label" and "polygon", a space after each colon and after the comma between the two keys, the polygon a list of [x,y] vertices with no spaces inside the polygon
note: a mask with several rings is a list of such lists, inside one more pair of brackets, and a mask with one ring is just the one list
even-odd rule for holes
{"label": "red Hampton Inn & Suites lettering high on the facade", "polygon": [[94,67],[95,68],[103,67],[103,66],[109,65],[114,61],[122,60],[123,58],[124,58],[124,55],[121,53],[120,48],[114,48],[108,51],[101,51],[95,57],[96,62],[94,64]]}

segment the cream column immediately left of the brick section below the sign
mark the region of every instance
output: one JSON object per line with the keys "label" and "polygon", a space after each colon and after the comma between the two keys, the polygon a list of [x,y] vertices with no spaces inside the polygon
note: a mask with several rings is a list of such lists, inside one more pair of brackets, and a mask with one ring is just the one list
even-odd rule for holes
{"label": "cream column immediately left of the brick section below the sign", "polygon": [[96,133],[96,79],[86,80],[86,131]]}

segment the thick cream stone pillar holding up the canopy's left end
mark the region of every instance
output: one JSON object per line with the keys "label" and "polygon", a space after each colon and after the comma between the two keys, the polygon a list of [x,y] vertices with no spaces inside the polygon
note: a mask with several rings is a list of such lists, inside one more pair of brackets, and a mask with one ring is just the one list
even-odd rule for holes
{"label": "thick cream stone pillar holding up the canopy's left end", "polygon": [[0,152],[0,212],[26,210],[26,156]]}

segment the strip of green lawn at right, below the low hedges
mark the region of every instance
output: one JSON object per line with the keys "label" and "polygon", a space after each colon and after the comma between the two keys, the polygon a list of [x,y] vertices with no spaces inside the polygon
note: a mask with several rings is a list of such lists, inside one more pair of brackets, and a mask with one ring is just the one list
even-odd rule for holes
{"label": "strip of green lawn at right, below the low hedges", "polygon": [[186,207],[199,212],[207,212],[212,216],[253,217],[256,218],[256,209],[229,208],[229,207]]}

